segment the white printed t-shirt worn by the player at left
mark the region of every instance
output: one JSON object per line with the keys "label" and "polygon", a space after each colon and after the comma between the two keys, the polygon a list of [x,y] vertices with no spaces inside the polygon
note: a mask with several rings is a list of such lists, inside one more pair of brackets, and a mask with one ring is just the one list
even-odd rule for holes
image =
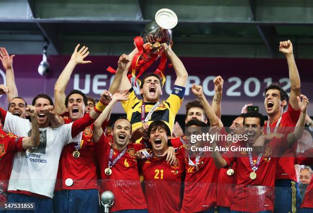
{"label": "white printed t-shirt worn by the player at left", "polygon": [[[63,147],[79,140],[72,138],[72,124],[40,128],[40,145],[14,156],[8,191],[23,190],[53,197],[59,158]],[[30,136],[31,122],[7,112],[4,130]]]}

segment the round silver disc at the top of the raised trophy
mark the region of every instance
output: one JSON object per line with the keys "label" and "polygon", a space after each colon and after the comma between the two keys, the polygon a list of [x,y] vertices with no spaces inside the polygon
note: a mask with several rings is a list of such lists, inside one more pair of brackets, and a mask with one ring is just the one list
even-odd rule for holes
{"label": "round silver disc at the top of the raised trophy", "polygon": [[155,21],[161,28],[169,30],[177,25],[177,16],[172,10],[163,8],[155,13]]}

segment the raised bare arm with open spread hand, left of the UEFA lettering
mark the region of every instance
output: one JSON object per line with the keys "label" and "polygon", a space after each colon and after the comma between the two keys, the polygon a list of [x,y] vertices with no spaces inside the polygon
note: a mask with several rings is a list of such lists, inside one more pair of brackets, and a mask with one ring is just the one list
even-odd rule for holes
{"label": "raised bare arm with open spread hand, left of the UEFA lettering", "polygon": [[64,105],[65,102],[65,89],[66,85],[68,85],[73,70],[77,64],[86,64],[91,63],[91,61],[84,61],[89,55],[88,48],[83,46],[79,51],[80,44],[77,44],[74,53],[68,64],[66,64],[65,68],[63,69],[62,73],[60,74],[57,82],[54,85],[54,104],[55,104],[55,113],[62,114],[66,111],[66,107]]}

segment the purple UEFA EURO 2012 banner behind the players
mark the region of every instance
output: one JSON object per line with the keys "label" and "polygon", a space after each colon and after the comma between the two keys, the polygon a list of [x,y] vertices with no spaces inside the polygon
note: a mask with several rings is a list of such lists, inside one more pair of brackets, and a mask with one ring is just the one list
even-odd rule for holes
{"label": "purple UEFA EURO 2012 banner behind the players", "polygon": [[[179,45],[179,43],[175,43],[175,45]],[[175,51],[175,46],[173,46],[173,51]],[[86,60],[90,60],[92,63],[75,67],[66,92],[72,89],[80,89],[88,96],[98,98],[104,89],[109,88],[114,78],[114,74],[107,72],[106,68],[111,66],[116,69],[118,58],[119,56],[88,56]],[[37,72],[38,65],[42,60],[41,55],[16,55],[13,67],[18,95],[25,98],[28,103],[31,103],[32,98],[38,93],[47,93],[53,97],[54,84],[69,59],[70,56],[49,56],[50,74],[42,77]],[[211,102],[214,95],[213,79],[218,75],[224,80],[222,114],[225,115],[238,114],[242,106],[247,103],[259,106],[260,112],[265,114],[263,107],[264,87],[272,82],[279,83],[287,92],[290,92],[288,65],[284,58],[181,57],[181,60],[189,75],[184,103],[195,99],[191,92],[193,83],[203,86],[204,93]],[[309,99],[313,99],[313,93],[311,92],[311,88],[313,88],[313,61],[299,59],[296,62],[301,78],[301,93]],[[153,64],[145,73],[154,72],[157,65],[158,63]],[[0,83],[4,83],[5,71],[2,66],[0,69]],[[173,67],[168,65],[166,65],[164,75],[166,76],[166,82],[163,86],[161,99],[166,99],[169,96],[176,78]],[[135,87],[135,92],[139,94],[139,88]],[[0,98],[0,104],[2,107],[7,107],[6,96]],[[114,112],[123,113],[124,111],[118,105],[114,108]],[[184,104],[178,113],[185,113]],[[313,107],[308,107],[308,114],[313,114]]]}

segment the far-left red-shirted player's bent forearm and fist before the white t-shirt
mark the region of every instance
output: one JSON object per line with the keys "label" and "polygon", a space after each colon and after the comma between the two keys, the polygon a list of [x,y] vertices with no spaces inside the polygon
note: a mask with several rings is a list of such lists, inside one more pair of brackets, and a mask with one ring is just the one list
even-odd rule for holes
{"label": "far-left red-shirted player's bent forearm and fist before the white t-shirt", "polygon": [[33,147],[38,147],[40,144],[39,127],[37,122],[37,113],[34,106],[28,105],[26,107],[26,113],[32,119],[32,131],[30,137],[24,137],[22,140],[23,149],[27,150]]}

